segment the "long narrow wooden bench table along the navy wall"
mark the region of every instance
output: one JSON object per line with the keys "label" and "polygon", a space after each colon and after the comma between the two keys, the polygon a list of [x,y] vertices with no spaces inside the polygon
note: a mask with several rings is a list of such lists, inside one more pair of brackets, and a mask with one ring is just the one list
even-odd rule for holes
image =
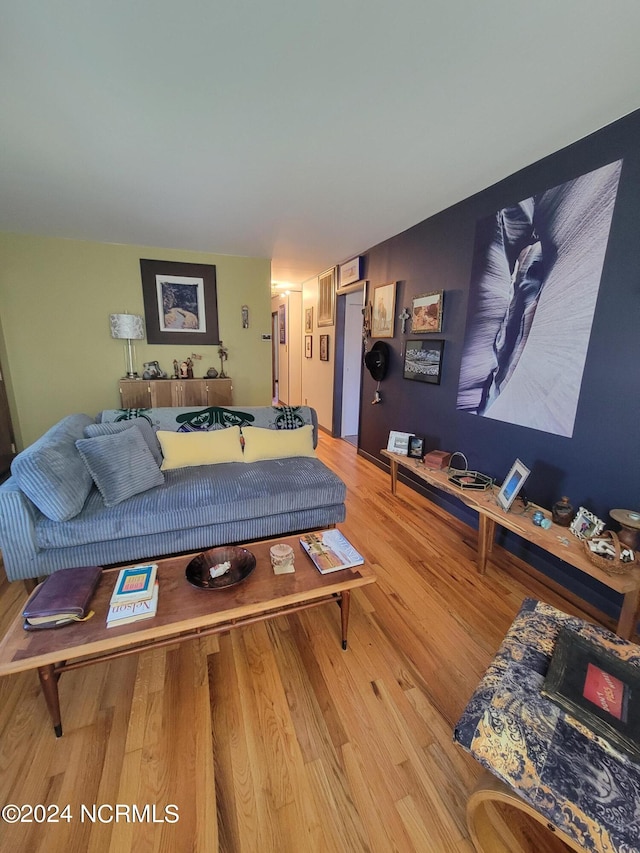
{"label": "long narrow wooden bench table along the navy wall", "polygon": [[632,636],[640,601],[640,568],[637,565],[627,574],[609,575],[593,565],[584,553],[582,542],[567,527],[552,524],[548,530],[545,530],[533,524],[531,513],[534,510],[542,509],[545,515],[550,517],[549,510],[529,504],[526,514],[518,515],[513,510],[504,512],[496,503],[492,489],[484,491],[460,489],[449,482],[449,473],[446,470],[438,471],[428,468],[419,460],[410,459],[408,456],[402,456],[390,450],[380,452],[390,463],[391,491],[394,495],[398,484],[398,468],[402,467],[430,486],[454,495],[478,513],[478,572],[480,574],[486,571],[496,526],[504,527],[619,593],[622,596],[622,607],[616,633],[626,640]]}

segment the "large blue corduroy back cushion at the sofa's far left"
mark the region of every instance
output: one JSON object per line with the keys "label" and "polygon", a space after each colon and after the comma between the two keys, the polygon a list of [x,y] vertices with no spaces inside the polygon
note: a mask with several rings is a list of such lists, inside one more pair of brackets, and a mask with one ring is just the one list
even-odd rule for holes
{"label": "large blue corduroy back cushion at the sofa's far left", "polygon": [[76,448],[89,415],[69,415],[19,453],[11,464],[16,483],[52,521],[76,516],[93,487],[91,474]]}

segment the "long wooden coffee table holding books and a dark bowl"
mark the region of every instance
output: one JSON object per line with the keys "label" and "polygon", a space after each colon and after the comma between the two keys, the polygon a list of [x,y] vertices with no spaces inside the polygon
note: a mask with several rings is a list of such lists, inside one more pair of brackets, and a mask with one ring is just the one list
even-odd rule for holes
{"label": "long wooden coffee table holding books and a dark bowl", "polygon": [[[269,557],[274,542],[292,546],[295,573],[274,574]],[[193,554],[157,560],[160,591],[156,615],[119,628],[106,626],[109,599],[118,575],[118,569],[106,569],[91,601],[95,615],[88,622],[25,631],[22,617],[17,617],[0,642],[0,675],[38,670],[54,731],[60,737],[58,679],[70,669],[227,631],[328,601],[340,605],[342,648],[346,649],[351,590],[375,581],[371,569],[364,564],[322,575],[297,536],[245,547],[255,555],[256,568],[246,580],[224,589],[197,589],[186,580],[185,569]]]}

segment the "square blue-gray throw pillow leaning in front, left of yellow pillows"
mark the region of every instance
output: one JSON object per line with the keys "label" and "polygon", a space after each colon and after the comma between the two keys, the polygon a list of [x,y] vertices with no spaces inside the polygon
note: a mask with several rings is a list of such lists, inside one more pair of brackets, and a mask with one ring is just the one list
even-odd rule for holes
{"label": "square blue-gray throw pillow leaning in front, left of yellow pillows", "polygon": [[164,474],[137,427],[113,435],[81,438],[76,447],[105,506],[115,506],[164,483]]}

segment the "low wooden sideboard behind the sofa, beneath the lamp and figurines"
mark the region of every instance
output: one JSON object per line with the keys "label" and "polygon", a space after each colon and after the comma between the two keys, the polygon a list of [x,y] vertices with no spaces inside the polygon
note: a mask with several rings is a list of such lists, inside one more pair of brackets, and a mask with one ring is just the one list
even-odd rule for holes
{"label": "low wooden sideboard behind the sofa, beneath the lamp and figurines", "polygon": [[232,406],[231,379],[121,379],[123,409]]}

